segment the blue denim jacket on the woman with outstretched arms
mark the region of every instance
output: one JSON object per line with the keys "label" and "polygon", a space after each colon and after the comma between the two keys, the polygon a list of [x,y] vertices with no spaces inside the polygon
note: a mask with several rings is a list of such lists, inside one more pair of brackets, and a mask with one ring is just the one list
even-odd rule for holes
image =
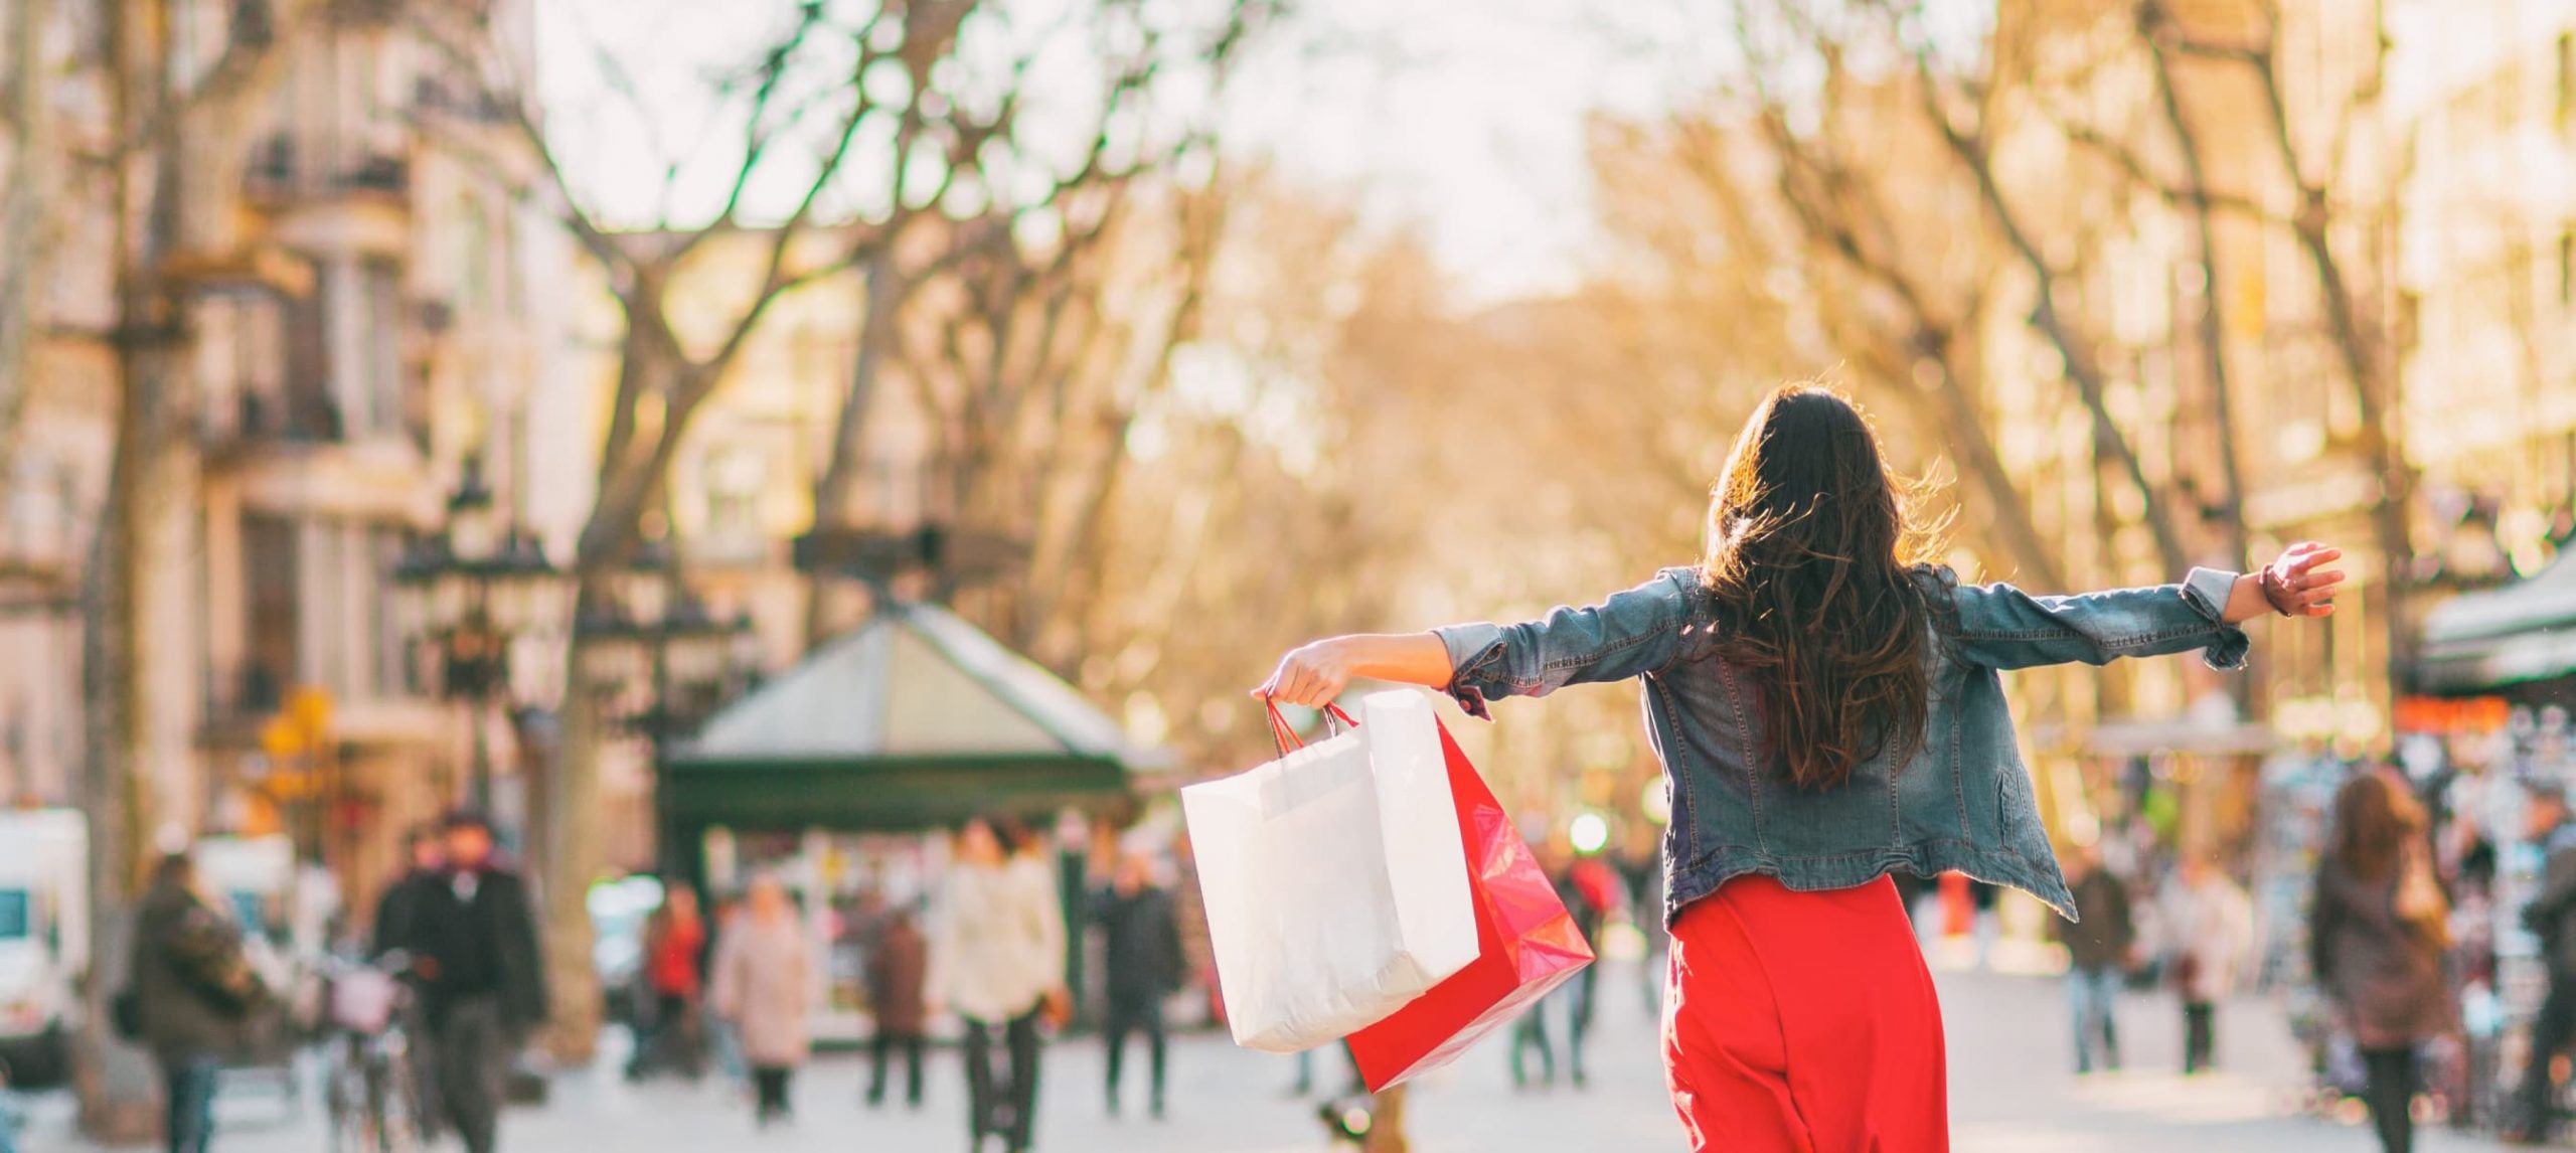
{"label": "blue denim jacket on the woman with outstretched arms", "polygon": [[2182,584],[2032,597],[2009,584],[1922,574],[1955,605],[1935,625],[1929,721],[1904,764],[1883,752],[1832,790],[1783,780],[1754,677],[1718,656],[1716,613],[1698,569],[1667,569],[1595,607],[1558,607],[1522,625],[1435,628],[1448,646],[1450,695],[1473,713],[1492,697],[1540,697],[1564,685],[1638,677],[1646,731],[1672,782],[1664,829],[1664,919],[1762,872],[1795,890],[1850,888],[1891,870],[1947,870],[2020,888],[2069,921],[2066,878],[2040,824],[2012,710],[1996,669],[2107,664],[2200,649],[2213,669],[2239,669],[2244,631],[2221,620],[2226,571],[2192,569]]}

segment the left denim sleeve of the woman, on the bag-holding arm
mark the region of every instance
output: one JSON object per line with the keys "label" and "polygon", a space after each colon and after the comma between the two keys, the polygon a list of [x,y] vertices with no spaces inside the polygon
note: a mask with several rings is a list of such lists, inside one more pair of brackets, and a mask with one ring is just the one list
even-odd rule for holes
{"label": "left denim sleeve of the woman, on the bag-holding arm", "polygon": [[1520,625],[1432,628],[1450,654],[1450,697],[1492,721],[1492,697],[1543,697],[1566,685],[1628,679],[1682,654],[1695,569],[1664,569],[1651,582],[1592,607],[1558,607]]}

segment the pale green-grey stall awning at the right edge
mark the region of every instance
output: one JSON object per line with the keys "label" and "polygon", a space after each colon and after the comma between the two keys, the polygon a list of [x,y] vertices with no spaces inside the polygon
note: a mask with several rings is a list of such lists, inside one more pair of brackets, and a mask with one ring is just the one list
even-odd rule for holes
{"label": "pale green-grey stall awning at the right edge", "polygon": [[2576,564],[2501,589],[2465,592],[2424,613],[2414,685],[2421,692],[2478,692],[2576,672]]}

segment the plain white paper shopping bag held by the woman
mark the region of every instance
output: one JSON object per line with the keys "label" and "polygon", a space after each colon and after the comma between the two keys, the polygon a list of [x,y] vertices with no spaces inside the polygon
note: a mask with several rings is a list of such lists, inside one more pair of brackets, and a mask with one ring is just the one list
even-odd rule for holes
{"label": "plain white paper shopping bag held by the woman", "polygon": [[1476,906],[1430,697],[1180,790],[1234,1042],[1298,1053],[1476,960]]}

